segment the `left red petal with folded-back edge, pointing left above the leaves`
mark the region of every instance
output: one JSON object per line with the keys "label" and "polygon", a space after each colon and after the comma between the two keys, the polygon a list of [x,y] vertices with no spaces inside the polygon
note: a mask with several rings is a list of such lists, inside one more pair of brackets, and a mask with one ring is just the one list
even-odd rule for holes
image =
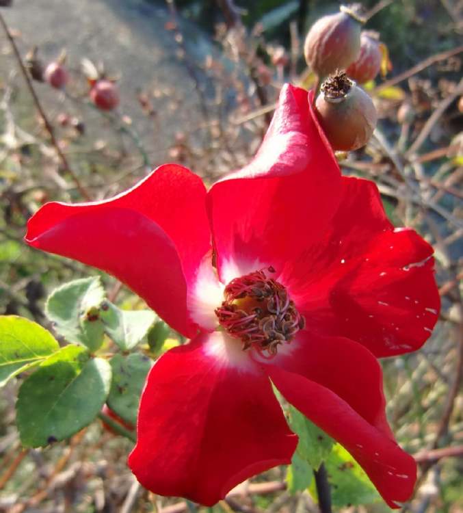
{"label": "left red petal with folded-back edge, pointing left above the leaves", "polygon": [[114,274],[179,332],[196,332],[187,285],[210,248],[206,190],[186,168],[167,164],[109,200],[44,205],[25,240]]}

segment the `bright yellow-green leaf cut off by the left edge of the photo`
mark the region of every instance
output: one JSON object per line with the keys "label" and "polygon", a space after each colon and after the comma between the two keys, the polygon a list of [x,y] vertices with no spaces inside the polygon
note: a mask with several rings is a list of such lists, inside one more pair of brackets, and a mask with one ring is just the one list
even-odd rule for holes
{"label": "bright yellow-green leaf cut off by the left edge of the photo", "polygon": [[29,319],[0,317],[0,386],[59,350],[51,333]]}

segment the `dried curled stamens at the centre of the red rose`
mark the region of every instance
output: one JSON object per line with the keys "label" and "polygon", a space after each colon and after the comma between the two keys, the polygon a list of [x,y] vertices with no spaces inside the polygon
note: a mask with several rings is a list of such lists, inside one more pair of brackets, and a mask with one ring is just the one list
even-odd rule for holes
{"label": "dried curled stamens at the centre of the red rose", "polygon": [[278,345],[291,342],[305,326],[287,289],[263,270],[231,280],[224,298],[215,315],[228,334],[243,341],[243,350],[254,347],[274,356]]}

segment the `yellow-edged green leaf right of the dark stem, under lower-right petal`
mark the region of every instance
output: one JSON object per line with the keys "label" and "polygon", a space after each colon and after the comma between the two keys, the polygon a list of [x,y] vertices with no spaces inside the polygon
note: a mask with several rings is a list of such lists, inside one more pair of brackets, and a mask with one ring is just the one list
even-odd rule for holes
{"label": "yellow-edged green leaf right of the dark stem, under lower-right petal", "polygon": [[[371,504],[381,497],[360,465],[339,443],[334,445],[325,460],[328,481],[331,485],[332,505]],[[310,487],[316,497],[315,486]]]}

